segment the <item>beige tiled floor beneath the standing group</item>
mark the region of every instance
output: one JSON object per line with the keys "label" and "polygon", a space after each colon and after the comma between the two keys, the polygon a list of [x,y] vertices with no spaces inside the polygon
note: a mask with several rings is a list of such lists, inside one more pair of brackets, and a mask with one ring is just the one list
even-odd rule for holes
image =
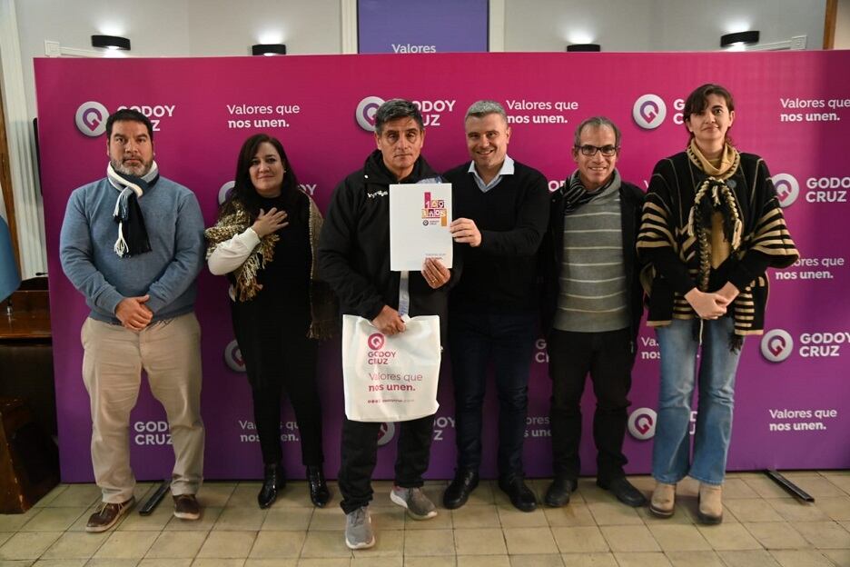
{"label": "beige tiled floor beneath the standing group", "polygon": [[[303,482],[291,482],[269,510],[256,505],[257,482],[208,482],[199,494],[200,522],[172,517],[164,501],[148,517],[131,512],[117,529],[84,532],[99,500],[92,484],[61,485],[25,514],[0,515],[0,567],[278,567],[560,565],[578,567],[850,567],[850,472],[787,476],[815,496],[797,502],[758,473],[726,480],[724,522],[694,521],[694,482],[679,485],[670,520],[633,510],[582,479],[565,508],[523,513],[490,482],[469,503],[415,522],[390,503],[389,482],[375,482],[372,521],[378,543],[351,552],[342,538],[339,492],[314,510]],[[649,493],[652,480],[632,479]],[[440,502],[445,482],[426,491]],[[547,481],[530,482],[541,496]],[[140,485],[137,497],[153,490]]]}

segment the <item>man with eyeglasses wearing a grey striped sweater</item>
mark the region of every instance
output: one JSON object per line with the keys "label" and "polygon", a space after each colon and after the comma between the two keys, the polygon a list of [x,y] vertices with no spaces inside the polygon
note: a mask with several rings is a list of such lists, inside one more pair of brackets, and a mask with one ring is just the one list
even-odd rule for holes
{"label": "man with eyeglasses wearing a grey striped sweater", "polygon": [[541,250],[552,379],[549,506],[567,504],[578,487],[580,404],[588,373],[597,399],[597,484],[629,506],[647,502],[623,470],[627,396],[643,312],[635,239],[644,193],[620,179],[619,151],[620,131],[608,118],[578,124],[572,148],[578,169],[551,197]]}

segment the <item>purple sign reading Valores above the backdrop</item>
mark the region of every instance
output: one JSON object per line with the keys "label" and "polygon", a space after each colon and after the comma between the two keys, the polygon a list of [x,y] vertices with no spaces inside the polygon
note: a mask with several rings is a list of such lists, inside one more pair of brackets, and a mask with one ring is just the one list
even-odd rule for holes
{"label": "purple sign reading Valores above the backdrop", "polygon": [[359,0],[358,52],[486,52],[488,6],[488,0]]}

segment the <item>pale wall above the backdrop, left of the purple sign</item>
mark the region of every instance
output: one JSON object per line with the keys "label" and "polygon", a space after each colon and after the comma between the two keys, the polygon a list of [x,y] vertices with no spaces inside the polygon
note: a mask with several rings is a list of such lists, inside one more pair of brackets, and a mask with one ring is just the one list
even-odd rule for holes
{"label": "pale wall above the backdrop, left of the purple sign", "polygon": [[44,56],[45,39],[94,51],[91,35],[122,35],[133,57],[251,55],[258,43],[341,53],[340,0],[18,0],[15,8],[30,117],[33,58]]}

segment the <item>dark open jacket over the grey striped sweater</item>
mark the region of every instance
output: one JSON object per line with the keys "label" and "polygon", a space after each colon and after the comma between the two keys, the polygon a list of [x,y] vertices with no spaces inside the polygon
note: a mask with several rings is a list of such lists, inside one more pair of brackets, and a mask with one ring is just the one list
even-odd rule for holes
{"label": "dark open jacket over the grey striped sweater", "polygon": [[[543,276],[543,308],[541,323],[546,336],[552,331],[558,309],[559,275],[564,260],[564,185],[551,196],[549,231],[540,246],[540,272]],[[640,286],[640,266],[637,263],[637,229],[646,194],[636,185],[620,184],[620,223],[623,238],[626,288],[628,289],[628,319],[632,341],[637,341],[640,317],[643,314],[643,290]]]}

